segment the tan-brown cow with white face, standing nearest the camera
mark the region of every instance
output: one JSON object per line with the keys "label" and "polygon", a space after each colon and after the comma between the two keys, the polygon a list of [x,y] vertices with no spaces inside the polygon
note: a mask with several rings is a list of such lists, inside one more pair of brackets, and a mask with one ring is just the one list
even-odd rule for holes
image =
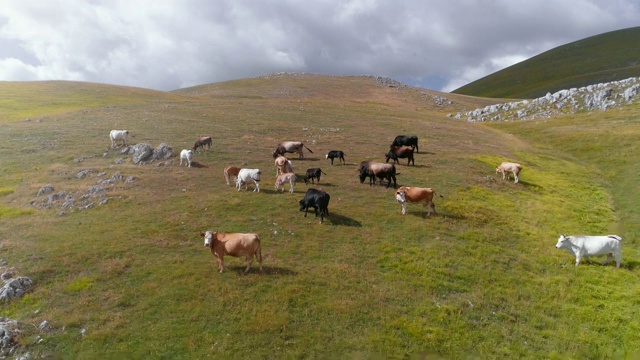
{"label": "tan-brown cow with white face, standing nearest the camera", "polygon": [[224,256],[246,256],[246,274],[253,263],[253,257],[258,259],[260,271],[262,271],[262,251],[260,250],[260,238],[258,234],[224,233],[222,231],[208,231],[200,233],[204,238],[204,246],[211,249],[211,254],[218,259],[218,271],[224,271]]}

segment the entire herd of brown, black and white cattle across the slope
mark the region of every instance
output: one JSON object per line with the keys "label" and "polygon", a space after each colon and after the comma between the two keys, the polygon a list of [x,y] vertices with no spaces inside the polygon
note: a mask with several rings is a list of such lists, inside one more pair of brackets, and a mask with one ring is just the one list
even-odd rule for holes
{"label": "entire herd of brown, black and white cattle across the slope", "polygon": [[[115,147],[118,141],[122,141],[124,146],[127,145],[127,138],[129,136],[128,130],[111,130],[109,138],[111,140],[111,147]],[[182,166],[183,160],[185,165],[191,167],[193,160],[193,154],[198,147],[205,146],[211,149],[212,138],[210,136],[202,136],[196,139],[192,149],[183,149],[180,152],[180,166]],[[274,165],[276,168],[276,181],[275,191],[277,192],[282,188],[284,192],[285,185],[289,183],[289,192],[293,193],[294,184],[297,180],[296,174],[293,172],[293,166],[291,160],[285,157],[287,153],[297,153],[299,159],[304,158],[303,149],[307,149],[310,153],[313,153],[306,145],[299,141],[286,141],[278,144],[273,151],[273,158],[275,159]],[[417,136],[397,136],[389,148],[386,154],[385,163],[377,163],[373,161],[363,161],[358,166],[358,173],[360,183],[364,183],[369,178],[369,185],[375,184],[376,180],[380,180],[380,185],[383,184],[383,180],[387,180],[387,188],[391,186],[393,180],[393,187],[397,188],[396,182],[396,167],[395,164],[399,164],[399,159],[408,159],[407,166],[413,164],[415,166],[413,153],[418,152],[418,137]],[[334,159],[338,159],[340,164],[346,164],[345,154],[341,150],[331,150],[325,155],[325,159],[331,160],[333,165]],[[392,164],[389,164],[389,160],[393,160]],[[502,174],[502,179],[510,179],[510,175],[514,177],[514,183],[519,182],[519,174],[522,170],[520,164],[512,162],[503,162],[496,167],[496,173]],[[320,168],[310,168],[306,171],[303,179],[305,184],[311,181],[315,184],[317,181],[320,183],[321,174],[325,174]],[[244,185],[245,190],[247,184],[253,182],[254,192],[260,192],[260,180],[261,171],[259,169],[246,169],[236,166],[227,166],[224,168],[224,178],[227,185],[231,184],[231,181],[235,178],[235,185],[238,191]],[[423,204],[427,208],[427,216],[430,216],[433,212],[436,213],[435,204],[433,198],[435,191],[431,188],[422,188],[416,186],[401,186],[395,192],[395,200],[402,206],[402,214],[407,211],[407,203]],[[309,208],[315,210],[315,216],[320,215],[320,223],[324,221],[326,216],[329,216],[329,200],[330,195],[323,190],[310,188],[305,193],[302,200],[299,201],[300,211],[304,211],[304,216],[307,216]],[[211,253],[218,260],[218,270],[223,272],[225,255],[240,257],[245,256],[247,261],[247,267],[245,273],[249,271],[254,257],[260,264],[260,270],[262,271],[262,254],[260,249],[260,238],[257,234],[242,234],[242,233],[224,233],[224,232],[211,232],[206,231],[200,234],[204,237],[204,245],[209,247]],[[607,236],[576,236],[576,235],[560,235],[557,249],[565,249],[569,253],[575,256],[576,266],[580,263],[581,259],[588,260],[589,256],[608,255],[608,259],[604,264],[611,261],[613,257],[616,259],[616,267],[620,267],[621,252],[622,252],[622,238],[617,235]]]}

